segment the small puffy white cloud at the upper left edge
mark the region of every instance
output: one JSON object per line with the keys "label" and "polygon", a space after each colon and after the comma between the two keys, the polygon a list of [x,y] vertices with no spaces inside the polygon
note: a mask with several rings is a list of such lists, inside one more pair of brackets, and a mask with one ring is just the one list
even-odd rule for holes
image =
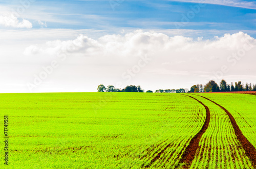
{"label": "small puffy white cloud at the upper left edge", "polygon": [[0,25],[6,27],[15,27],[15,28],[32,28],[32,23],[26,19],[19,20],[13,14],[3,14],[0,15]]}

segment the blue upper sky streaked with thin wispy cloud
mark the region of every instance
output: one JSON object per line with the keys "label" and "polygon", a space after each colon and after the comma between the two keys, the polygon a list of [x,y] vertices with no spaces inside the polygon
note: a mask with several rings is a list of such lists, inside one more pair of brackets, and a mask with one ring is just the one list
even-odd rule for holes
{"label": "blue upper sky streaked with thin wispy cloud", "polygon": [[[15,9],[18,1],[1,4]],[[30,20],[47,22],[49,29],[98,29],[116,27],[139,29],[177,29],[175,23],[182,21],[198,3],[178,1],[35,1],[23,14]],[[192,1],[193,2],[193,1]],[[201,1],[207,2],[207,1]],[[215,1],[216,2],[216,1]],[[223,1],[228,2],[228,1]],[[233,1],[236,2],[236,1]],[[185,19],[180,29],[193,30],[255,30],[256,3],[240,7],[206,4],[199,13]],[[242,1],[238,1],[242,3]],[[250,3],[250,1],[243,1]],[[112,8],[114,5],[114,10]],[[221,3],[219,3],[221,4]],[[254,8],[254,9],[248,9]],[[37,18],[35,17],[37,16]],[[33,22],[32,22],[33,23]],[[34,28],[39,25],[33,24]]]}

